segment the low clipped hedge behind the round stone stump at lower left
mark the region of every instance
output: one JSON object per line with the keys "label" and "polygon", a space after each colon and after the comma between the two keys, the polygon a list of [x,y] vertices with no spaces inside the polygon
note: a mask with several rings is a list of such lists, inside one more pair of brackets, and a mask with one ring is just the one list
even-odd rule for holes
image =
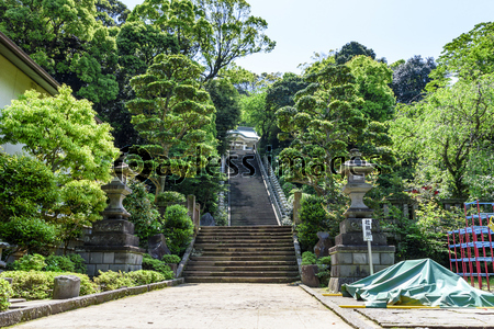
{"label": "low clipped hedge behind the round stone stump at lower left", "polygon": [[54,288],[55,276],[76,275],[80,277],[80,295],[97,293],[97,286],[86,274],[70,272],[40,272],[40,271],[5,271],[1,277],[12,277],[14,298],[46,299],[50,298]]}

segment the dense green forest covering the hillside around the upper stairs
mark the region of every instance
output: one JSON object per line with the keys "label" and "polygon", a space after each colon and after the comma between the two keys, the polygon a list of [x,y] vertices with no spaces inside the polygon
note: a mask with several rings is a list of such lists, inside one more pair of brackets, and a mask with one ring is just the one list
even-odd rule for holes
{"label": "dense green forest covering the hillside around the upper stairs", "polygon": [[[284,192],[302,191],[307,206],[324,209],[324,218],[304,219],[306,249],[314,231],[338,230],[348,198],[330,164],[352,148],[379,164],[367,202],[375,218],[397,219],[384,226],[404,237],[398,259],[444,262],[444,229],[461,216],[441,200],[494,200],[494,23],[465,31],[437,59],[386,63],[372,45],[348,41],[307,58],[300,75],[260,76],[235,64],[276,47],[245,0],[144,0],[132,11],[117,0],[0,0],[0,31],[67,86],[63,94],[92,103],[115,147],[150,155],[161,170],[146,177],[156,197],[195,194],[216,214],[222,177],[202,169],[217,167],[210,160],[228,148],[228,129],[255,127]],[[293,158],[307,170],[283,164]],[[82,178],[105,179],[67,186]],[[393,207],[384,214],[391,198],[415,203],[415,219]]]}

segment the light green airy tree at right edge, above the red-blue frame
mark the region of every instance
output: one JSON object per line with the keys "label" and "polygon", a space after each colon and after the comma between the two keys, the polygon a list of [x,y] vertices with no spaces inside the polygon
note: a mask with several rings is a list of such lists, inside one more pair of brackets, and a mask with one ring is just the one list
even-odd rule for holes
{"label": "light green airy tree at right edge, above the red-blue frame", "polygon": [[[416,180],[440,184],[444,196],[468,197],[467,169],[494,136],[494,77],[459,80],[403,106],[392,125],[394,148],[419,159]],[[471,175],[470,175],[471,177]]]}

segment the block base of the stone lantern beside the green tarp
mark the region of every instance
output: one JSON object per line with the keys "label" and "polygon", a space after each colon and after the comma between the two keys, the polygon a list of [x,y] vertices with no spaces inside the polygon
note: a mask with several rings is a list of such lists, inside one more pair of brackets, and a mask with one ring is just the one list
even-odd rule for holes
{"label": "block base of the stone lantern beside the green tarp", "polygon": [[[374,273],[394,264],[394,251],[393,246],[372,246]],[[353,283],[370,275],[367,245],[337,245],[329,249],[329,256],[332,257],[332,277],[328,288],[333,293],[340,292],[343,284]]]}

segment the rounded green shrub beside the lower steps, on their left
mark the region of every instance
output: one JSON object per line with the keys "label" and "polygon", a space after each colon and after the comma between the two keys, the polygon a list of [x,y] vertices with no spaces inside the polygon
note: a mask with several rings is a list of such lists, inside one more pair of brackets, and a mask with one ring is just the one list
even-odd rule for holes
{"label": "rounded green shrub beside the lower steps, on their left", "polygon": [[189,245],[194,225],[187,215],[187,208],[181,205],[172,205],[165,211],[164,235],[167,246],[175,254],[182,254]]}

